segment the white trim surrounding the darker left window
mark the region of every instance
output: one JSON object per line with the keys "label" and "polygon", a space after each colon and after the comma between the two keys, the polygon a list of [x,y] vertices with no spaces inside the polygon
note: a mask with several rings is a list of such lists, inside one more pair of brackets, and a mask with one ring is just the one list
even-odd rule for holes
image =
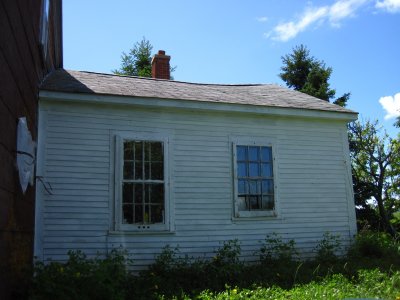
{"label": "white trim surrounding the darker left window", "polygon": [[[122,223],[122,176],[123,176],[123,142],[125,140],[156,141],[164,143],[164,224],[123,224]],[[170,201],[170,178],[169,178],[169,137],[159,134],[115,134],[115,176],[114,176],[114,221],[116,231],[126,232],[169,232],[171,226],[171,201]]]}

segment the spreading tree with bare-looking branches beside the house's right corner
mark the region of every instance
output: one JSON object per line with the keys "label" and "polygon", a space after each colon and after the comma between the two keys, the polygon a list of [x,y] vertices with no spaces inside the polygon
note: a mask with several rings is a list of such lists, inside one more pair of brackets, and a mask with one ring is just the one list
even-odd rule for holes
{"label": "spreading tree with bare-looking branches beside the house's right corner", "polygon": [[354,196],[358,219],[394,236],[390,219],[400,202],[400,141],[380,131],[377,121],[349,125]]}

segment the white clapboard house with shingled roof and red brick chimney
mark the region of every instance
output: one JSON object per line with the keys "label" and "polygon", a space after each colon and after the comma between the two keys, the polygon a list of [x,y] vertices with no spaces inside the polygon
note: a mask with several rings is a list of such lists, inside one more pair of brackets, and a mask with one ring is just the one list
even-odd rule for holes
{"label": "white clapboard house with shingled roof and red brick chimney", "polygon": [[255,260],[272,233],[305,256],[327,231],[350,242],[355,112],[278,85],[168,80],[163,51],[153,76],[60,69],[42,84],[35,256],[122,246],[140,268],[166,245],[211,257],[238,239]]}

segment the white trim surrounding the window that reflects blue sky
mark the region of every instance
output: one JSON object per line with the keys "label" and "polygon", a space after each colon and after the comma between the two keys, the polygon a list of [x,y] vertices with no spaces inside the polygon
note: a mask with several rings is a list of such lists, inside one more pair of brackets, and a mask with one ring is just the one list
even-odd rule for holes
{"label": "white trim surrounding the window that reflects blue sky", "polygon": [[[234,220],[259,220],[279,217],[279,201],[278,201],[278,167],[276,160],[277,146],[274,139],[268,138],[250,138],[250,137],[234,137],[231,138],[232,145],[232,170],[233,170],[233,219]],[[238,209],[238,176],[237,176],[237,154],[236,146],[261,146],[272,148],[273,178],[274,178],[274,209],[264,211],[239,211]]]}

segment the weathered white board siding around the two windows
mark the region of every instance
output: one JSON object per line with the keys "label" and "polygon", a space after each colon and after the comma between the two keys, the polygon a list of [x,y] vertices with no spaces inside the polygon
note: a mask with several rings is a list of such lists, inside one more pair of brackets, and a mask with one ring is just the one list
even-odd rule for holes
{"label": "weathered white board siding around the two windows", "polygon": [[[69,249],[95,254],[122,246],[140,268],[167,244],[210,257],[231,239],[239,239],[244,259],[254,260],[259,241],[274,232],[294,239],[307,256],[326,231],[344,244],[355,233],[343,121],[48,101],[40,121],[39,172],[53,188],[52,195],[41,189],[38,199],[36,255],[44,260],[65,259]],[[169,136],[173,233],[112,231],[115,132]],[[275,140],[277,218],[232,219],[233,137]]]}

